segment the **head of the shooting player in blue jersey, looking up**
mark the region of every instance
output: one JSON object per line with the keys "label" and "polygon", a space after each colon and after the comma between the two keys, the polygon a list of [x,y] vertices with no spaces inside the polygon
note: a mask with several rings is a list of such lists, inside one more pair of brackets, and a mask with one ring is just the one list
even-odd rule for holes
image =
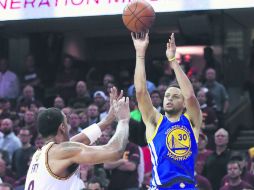
{"label": "head of the shooting player in blue jersey, looking up", "polygon": [[170,87],[166,90],[163,101],[163,108],[168,114],[177,114],[184,109],[184,99],[181,90]]}

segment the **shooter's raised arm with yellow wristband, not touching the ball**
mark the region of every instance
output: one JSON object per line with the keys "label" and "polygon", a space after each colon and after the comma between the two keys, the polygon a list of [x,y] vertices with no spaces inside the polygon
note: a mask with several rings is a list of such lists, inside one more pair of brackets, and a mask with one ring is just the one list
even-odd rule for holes
{"label": "shooter's raised arm with yellow wristband, not touching the ball", "polygon": [[167,43],[166,56],[168,58],[170,67],[174,70],[176,75],[176,80],[181,88],[187,114],[190,116],[190,120],[192,124],[194,124],[194,133],[196,139],[199,136],[199,130],[202,125],[202,113],[200,110],[200,106],[198,100],[195,96],[192,84],[186,74],[183,72],[179,63],[175,59],[176,45],[175,45],[175,37],[174,34],[171,35],[171,39],[169,39]]}

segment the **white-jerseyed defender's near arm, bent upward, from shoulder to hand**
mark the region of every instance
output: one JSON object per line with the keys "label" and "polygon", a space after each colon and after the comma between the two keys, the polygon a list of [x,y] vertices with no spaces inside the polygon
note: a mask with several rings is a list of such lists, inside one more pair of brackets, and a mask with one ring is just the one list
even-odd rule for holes
{"label": "white-jerseyed defender's near arm, bent upward, from shoulder to hand", "polygon": [[99,164],[116,161],[121,158],[128,142],[129,134],[129,99],[121,98],[114,101],[114,110],[118,125],[114,136],[104,146],[86,146],[81,143],[66,142],[60,145],[58,160],[63,160],[67,166],[71,164]]}

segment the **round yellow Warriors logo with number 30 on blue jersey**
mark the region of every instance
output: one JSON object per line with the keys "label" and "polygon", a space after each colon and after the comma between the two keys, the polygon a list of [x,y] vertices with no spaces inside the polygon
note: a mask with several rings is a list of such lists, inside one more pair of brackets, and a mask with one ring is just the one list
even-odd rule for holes
{"label": "round yellow Warriors logo with number 30 on blue jersey", "polygon": [[186,160],[191,155],[190,132],[185,126],[175,125],[166,132],[168,156],[174,160]]}

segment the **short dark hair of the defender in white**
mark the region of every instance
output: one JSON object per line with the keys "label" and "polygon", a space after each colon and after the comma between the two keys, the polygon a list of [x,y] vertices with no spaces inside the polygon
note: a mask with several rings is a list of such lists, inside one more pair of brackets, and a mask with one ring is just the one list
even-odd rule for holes
{"label": "short dark hair of the defender in white", "polygon": [[42,137],[55,136],[58,127],[64,122],[64,116],[58,108],[48,108],[38,114],[37,126]]}

